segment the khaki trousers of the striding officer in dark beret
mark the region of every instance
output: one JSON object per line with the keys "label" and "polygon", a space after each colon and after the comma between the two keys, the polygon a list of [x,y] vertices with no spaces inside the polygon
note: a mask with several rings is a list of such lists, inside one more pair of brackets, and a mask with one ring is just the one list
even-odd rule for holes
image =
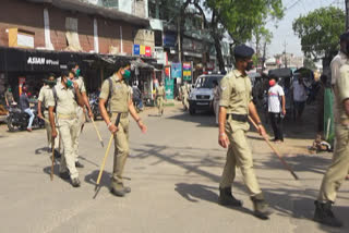
{"label": "khaki trousers of the striding officer in dark beret", "polygon": [[254,196],[256,194],[261,194],[262,191],[260,189],[260,185],[253,170],[252,152],[245,136],[248,128],[248,123],[241,123],[232,120],[228,120],[226,123],[226,134],[229,138],[230,145],[219,186],[221,188],[231,187],[236,177],[236,168],[238,167],[241,170],[250,195]]}

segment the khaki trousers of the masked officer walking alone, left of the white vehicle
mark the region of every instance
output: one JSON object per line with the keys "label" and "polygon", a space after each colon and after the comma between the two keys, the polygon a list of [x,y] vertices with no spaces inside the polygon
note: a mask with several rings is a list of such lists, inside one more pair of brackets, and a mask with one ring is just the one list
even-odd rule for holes
{"label": "khaki trousers of the masked officer walking alone, left of the white vehicle", "polygon": [[[112,113],[111,122],[115,123],[117,113]],[[123,170],[127,159],[130,154],[129,147],[129,118],[120,118],[118,132],[115,134],[115,156],[113,156],[113,170],[111,177],[112,187],[120,187],[123,185]]]}

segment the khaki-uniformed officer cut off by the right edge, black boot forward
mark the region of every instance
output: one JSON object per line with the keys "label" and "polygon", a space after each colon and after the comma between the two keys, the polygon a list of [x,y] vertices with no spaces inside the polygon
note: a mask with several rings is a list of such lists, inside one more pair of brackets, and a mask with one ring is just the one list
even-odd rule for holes
{"label": "khaki-uniformed officer cut off by the right edge, black boot forward", "polygon": [[[342,222],[332,211],[337,192],[349,171],[349,33],[340,36],[340,56],[344,60],[332,62],[332,73],[335,95],[335,151],[321,185],[317,200],[315,200],[314,220],[323,224],[340,228]],[[336,73],[335,72],[335,73]]]}

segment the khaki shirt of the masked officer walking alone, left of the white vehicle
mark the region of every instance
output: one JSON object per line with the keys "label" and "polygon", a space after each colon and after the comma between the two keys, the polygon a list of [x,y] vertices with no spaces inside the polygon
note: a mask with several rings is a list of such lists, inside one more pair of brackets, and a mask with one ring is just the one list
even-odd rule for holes
{"label": "khaki shirt of the masked officer walking alone, left of the white vehicle", "polygon": [[[132,88],[130,88],[123,81],[119,81],[116,75],[109,77],[112,82],[112,93],[110,97],[111,112],[129,112],[129,102],[131,101]],[[109,81],[106,79],[100,89],[100,99],[108,99],[109,97]]]}

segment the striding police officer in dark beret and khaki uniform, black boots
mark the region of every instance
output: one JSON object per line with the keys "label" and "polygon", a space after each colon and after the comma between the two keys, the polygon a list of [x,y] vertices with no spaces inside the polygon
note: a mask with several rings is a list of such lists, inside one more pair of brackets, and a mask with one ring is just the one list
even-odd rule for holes
{"label": "striding police officer in dark beret and khaki uniform, black boots", "polygon": [[252,69],[251,60],[254,50],[245,45],[234,48],[236,70],[227,74],[220,82],[219,101],[219,145],[228,147],[227,161],[219,184],[219,204],[241,206],[241,201],[231,194],[231,185],[236,177],[236,168],[240,168],[245,186],[251,195],[254,214],[267,219],[272,213],[264,200],[263,193],[253,170],[253,158],[245,133],[250,125],[250,115],[258,124],[260,134],[265,135],[260,116],[252,102],[252,85],[246,71]]}

